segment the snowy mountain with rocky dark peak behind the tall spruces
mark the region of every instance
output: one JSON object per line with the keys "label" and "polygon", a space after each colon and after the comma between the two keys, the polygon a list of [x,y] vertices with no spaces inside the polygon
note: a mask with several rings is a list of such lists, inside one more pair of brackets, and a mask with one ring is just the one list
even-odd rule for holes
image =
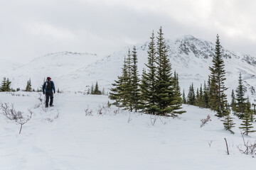
{"label": "snowy mountain with rocky dark peak behind the tall spruces", "polygon": [[[194,38],[192,35],[186,35],[181,38],[166,40],[166,45],[173,71],[176,70],[179,75],[181,89],[188,91],[191,83],[194,84],[195,88],[200,88],[204,81],[207,82],[210,74],[209,67],[212,67],[215,51],[214,43]],[[141,74],[143,67],[145,67],[144,63],[147,62],[148,42],[136,46],[139,60],[138,67]],[[132,47],[126,47],[122,51],[114,52],[105,59],[73,72],[68,77],[75,75],[75,77],[87,79],[87,85],[98,80],[100,84],[110,88],[113,80],[121,74],[121,67],[124,57],[127,56],[128,48],[132,50]],[[242,79],[245,86],[247,86],[248,95],[251,98],[256,98],[254,89],[254,86],[256,86],[256,58],[225,50],[224,47],[223,56],[227,78],[225,84],[228,87],[228,94],[231,94],[232,89],[237,88],[238,75],[239,72],[242,72]],[[230,98],[230,96],[228,97]]]}

